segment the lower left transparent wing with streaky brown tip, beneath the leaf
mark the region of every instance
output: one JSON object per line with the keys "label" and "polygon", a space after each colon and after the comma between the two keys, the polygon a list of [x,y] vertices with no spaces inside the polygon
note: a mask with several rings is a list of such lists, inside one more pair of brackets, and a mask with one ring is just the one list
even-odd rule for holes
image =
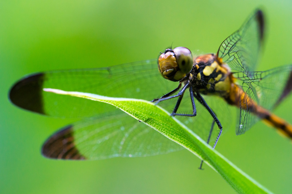
{"label": "lower left transparent wing with streaky brown tip, beneath the leaf", "polygon": [[42,154],[57,159],[100,160],[112,157],[142,157],[183,149],[127,114],[114,111],[86,118],[48,138]]}

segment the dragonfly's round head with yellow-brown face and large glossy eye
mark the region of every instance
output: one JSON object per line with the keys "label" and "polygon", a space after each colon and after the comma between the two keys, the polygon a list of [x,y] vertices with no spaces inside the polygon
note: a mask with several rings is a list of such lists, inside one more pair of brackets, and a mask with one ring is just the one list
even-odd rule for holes
{"label": "dragonfly's round head with yellow-brown face and large glossy eye", "polygon": [[185,47],[166,49],[158,58],[160,74],[170,81],[180,81],[192,70],[192,67],[192,53]]}

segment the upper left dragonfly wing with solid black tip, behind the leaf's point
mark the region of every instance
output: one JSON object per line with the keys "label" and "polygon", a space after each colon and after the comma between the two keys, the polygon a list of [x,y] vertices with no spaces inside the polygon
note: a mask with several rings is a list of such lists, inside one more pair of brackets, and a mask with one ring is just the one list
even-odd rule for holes
{"label": "upper left dragonfly wing with solid black tip, behind the leaf's point", "polygon": [[10,99],[21,108],[44,115],[90,117],[115,108],[101,102],[45,92],[43,88],[152,100],[177,84],[162,78],[156,60],[146,60],[105,68],[29,75],[11,88]]}

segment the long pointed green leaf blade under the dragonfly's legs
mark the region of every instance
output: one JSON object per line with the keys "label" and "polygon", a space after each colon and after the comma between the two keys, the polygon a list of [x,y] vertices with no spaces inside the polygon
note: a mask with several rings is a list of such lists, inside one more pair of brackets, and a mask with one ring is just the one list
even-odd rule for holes
{"label": "long pointed green leaf blade under the dragonfly's legs", "polygon": [[204,140],[194,134],[194,132],[180,121],[171,117],[168,112],[159,106],[155,106],[151,102],[140,99],[105,97],[83,92],[67,92],[51,88],[44,88],[44,91],[112,104],[159,131],[167,138],[180,144],[200,159],[204,160],[205,163],[218,172],[237,193],[271,193],[216,150],[212,149],[210,145],[206,144]]}

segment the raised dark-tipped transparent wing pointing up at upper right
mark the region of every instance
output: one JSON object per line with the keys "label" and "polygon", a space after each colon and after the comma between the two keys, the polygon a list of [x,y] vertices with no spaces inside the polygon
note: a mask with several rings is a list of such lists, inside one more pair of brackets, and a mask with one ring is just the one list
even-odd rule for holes
{"label": "raised dark-tipped transparent wing pointing up at upper right", "polygon": [[220,45],[217,56],[235,71],[253,72],[264,36],[263,13],[257,10],[239,30],[226,38]]}

